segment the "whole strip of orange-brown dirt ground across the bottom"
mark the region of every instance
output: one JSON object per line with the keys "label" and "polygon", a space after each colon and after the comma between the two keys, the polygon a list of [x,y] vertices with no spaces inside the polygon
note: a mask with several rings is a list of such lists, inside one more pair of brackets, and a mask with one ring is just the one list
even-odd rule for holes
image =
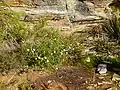
{"label": "whole strip of orange-brown dirt ground across the bottom", "polygon": [[64,66],[55,72],[28,70],[0,76],[0,90],[119,90],[111,74],[100,75],[86,67]]}

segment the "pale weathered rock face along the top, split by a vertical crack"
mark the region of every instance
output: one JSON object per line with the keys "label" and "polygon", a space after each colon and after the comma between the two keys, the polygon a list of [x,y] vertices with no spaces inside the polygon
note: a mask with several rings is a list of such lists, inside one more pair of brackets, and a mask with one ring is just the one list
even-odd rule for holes
{"label": "pale weathered rock face along the top, split by a vertical crack", "polygon": [[108,17],[110,15],[108,5],[112,0],[11,0],[11,2],[27,5],[33,12],[42,10],[48,13],[67,14],[69,19],[74,22]]}

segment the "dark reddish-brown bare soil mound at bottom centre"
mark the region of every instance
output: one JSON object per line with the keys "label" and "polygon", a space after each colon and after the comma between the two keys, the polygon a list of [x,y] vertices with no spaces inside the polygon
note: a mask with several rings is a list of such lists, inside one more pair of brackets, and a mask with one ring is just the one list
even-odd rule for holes
{"label": "dark reddish-brown bare soil mound at bottom centre", "polygon": [[62,67],[55,74],[36,80],[35,90],[53,90],[51,88],[54,85],[50,87],[53,83],[61,88],[56,90],[83,90],[85,88],[84,83],[90,82],[92,75],[92,72],[88,73],[85,68]]}

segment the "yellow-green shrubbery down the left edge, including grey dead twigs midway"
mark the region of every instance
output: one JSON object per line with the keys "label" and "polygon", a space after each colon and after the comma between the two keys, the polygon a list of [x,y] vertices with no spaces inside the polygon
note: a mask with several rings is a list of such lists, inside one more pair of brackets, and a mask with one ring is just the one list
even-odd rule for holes
{"label": "yellow-green shrubbery down the left edge, including grey dead twigs midway", "polygon": [[20,21],[22,13],[10,10],[0,1],[0,71],[18,68],[22,62],[19,48],[27,38],[26,24]]}

